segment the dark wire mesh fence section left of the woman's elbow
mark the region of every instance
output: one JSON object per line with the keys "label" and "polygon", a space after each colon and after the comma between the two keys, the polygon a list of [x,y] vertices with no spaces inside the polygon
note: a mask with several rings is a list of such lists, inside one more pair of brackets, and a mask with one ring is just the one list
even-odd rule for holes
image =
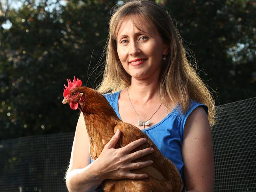
{"label": "dark wire mesh fence section left of the woman's elbow", "polygon": [[74,133],[0,142],[0,192],[65,192]]}

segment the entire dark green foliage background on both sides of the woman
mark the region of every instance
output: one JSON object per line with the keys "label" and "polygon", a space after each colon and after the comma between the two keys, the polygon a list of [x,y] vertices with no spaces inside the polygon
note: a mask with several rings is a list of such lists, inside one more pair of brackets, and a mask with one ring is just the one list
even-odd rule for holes
{"label": "entire dark green foliage background on both sides of the woman", "polygon": [[[62,105],[63,83],[98,85],[109,17],[122,1],[0,2],[0,139],[73,132],[78,111]],[[156,2],[193,50],[216,105],[256,96],[255,1]]]}

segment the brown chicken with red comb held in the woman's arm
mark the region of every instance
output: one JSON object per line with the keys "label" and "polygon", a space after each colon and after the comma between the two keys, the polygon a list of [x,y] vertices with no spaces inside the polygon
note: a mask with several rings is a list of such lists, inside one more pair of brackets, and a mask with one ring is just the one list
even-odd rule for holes
{"label": "brown chicken with red comb held in the woman's arm", "polygon": [[72,109],[82,111],[93,160],[98,158],[117,129],[122,134],[115,148],[124,147],[139,138],[146,138],[147,142],[134,151],[148,147],[154,148],[153,153],[133,161],[152,160],[154,162],[151,166],[131,170],[136,174],[148,174],[146,179],[106,179],[103,183],[105,192],[181,192],[183,183],[178,169],[161,154],[145,133],[131,124],[122,122],[106,98],[96,90],[81,87],[81,80],[76,80],[74,77],[73,82],[68,79],[68,84],[68,87],[64,85],[66,89],[63,93],[63,104],[69,103]]}

